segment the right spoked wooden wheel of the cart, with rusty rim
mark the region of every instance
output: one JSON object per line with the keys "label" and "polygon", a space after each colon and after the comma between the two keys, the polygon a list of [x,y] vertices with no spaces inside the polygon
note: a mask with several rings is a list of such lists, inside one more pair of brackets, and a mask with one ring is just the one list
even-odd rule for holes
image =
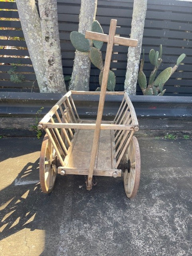
{"label": "right spoked wooden wheel of the cart, with rusty rim", "polygon": [[141,170],[139,143],[135,136],[131,138],[125,158],[128,162],[128,168],[123,174],[125,193],[128,198],[134,198],[139,188]]}

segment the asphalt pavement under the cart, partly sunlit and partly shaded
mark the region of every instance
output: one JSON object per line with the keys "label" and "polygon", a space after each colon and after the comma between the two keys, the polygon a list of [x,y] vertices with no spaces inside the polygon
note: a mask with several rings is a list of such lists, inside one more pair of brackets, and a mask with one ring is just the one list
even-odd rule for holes
{"label": "asphalt pavement under the cart, partly sunlit and partly shaded", "polygon": [[134,200],[122,178],[58,176],[41,192],[42,140],[0,139],[1,256],[192,255],[192,140],[139,138]]}

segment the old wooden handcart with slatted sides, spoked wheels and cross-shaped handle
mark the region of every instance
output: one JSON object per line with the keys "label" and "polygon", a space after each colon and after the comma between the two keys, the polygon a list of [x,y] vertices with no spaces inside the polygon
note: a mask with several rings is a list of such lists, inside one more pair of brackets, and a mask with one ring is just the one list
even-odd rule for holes
{"label": "old wooden handcart with slatted sides, spoked wheels and cross-shaped handle", "polygon": [[[121,177],[128,198],[137,194],[140,180],[139,130],[135,109],[126,92],[106,92],[113,44],[136,46],[137,40],[115,36],[117,20],[111,20],[109,36],[87,31],[85,36],[107,42],[101,92],[67,92],[40,121],[46,131],[40,153],[40,184],[44,193],[53,189],[56,174],[87,175],[87,190],[93,176]],[[96,120],[82,120],[73,101],[74,94],[99,94]],[[122,95],[115,118],[102,121],[105,94]]]}

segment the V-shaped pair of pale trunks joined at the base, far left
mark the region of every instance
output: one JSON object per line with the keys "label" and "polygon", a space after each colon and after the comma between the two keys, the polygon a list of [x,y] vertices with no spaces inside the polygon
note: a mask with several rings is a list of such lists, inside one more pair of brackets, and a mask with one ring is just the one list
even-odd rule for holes
{"label": "V-shaped pair of pale trunks joined at the base, far left", "polygon": [[61,63],[57,1],[16,0],[40,92],[66,92]]}

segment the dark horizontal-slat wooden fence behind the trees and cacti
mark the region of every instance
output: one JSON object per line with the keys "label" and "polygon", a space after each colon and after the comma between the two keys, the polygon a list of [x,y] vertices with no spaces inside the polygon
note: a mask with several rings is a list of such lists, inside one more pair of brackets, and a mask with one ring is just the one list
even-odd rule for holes
{"label": "dark horizontal-slat wooden fence behind the trees and cacti", "polygon": [[[74,48],[69,40],[69,34],[78,30],[80,0],[57,0],[59,35],[63,74],[70,75],[73,68]],[[18,20],[16,3],[0,2],[0,91],[38,92],[36,76],[29,58],[26,42],[18,40],[23,37],[21,24]],[[111,18],[117,19],[117,34],[129,37],[131,33],[131,18],[133,0],[98,0],[97,20],[101,23],[104,33],[109,31]],[[11,18],[11,19],[10,19]],[[145,50],[144,72],[147,77],[153,66],[148,60],[151,48],[158,50],[163,46],[163,62],[160,70],[174,66],[177,57],[185,53],[187,57],[179,66],[177,72],[166,82],[165,95],[192,96],[192,2],[177,0],[148,0],[148,9],[143,36]],[[38,47],[38,46],[37,46]],[[106,46],[103,45],[103,59]],[[26,57],[24,57],[26,56]],[[127,47],[114,46],[111,68],[116,75],[115,90],[124,89],[127,66]],[[2,64],[4,63],[4,64]],[[24,73],[25,80],[21,84],[10,82],[10,64],[17,64],[17,72]],[[99,70],[91,67],[90,90],[98,86]],[[139,86],[137,94],[142,94]]]}

